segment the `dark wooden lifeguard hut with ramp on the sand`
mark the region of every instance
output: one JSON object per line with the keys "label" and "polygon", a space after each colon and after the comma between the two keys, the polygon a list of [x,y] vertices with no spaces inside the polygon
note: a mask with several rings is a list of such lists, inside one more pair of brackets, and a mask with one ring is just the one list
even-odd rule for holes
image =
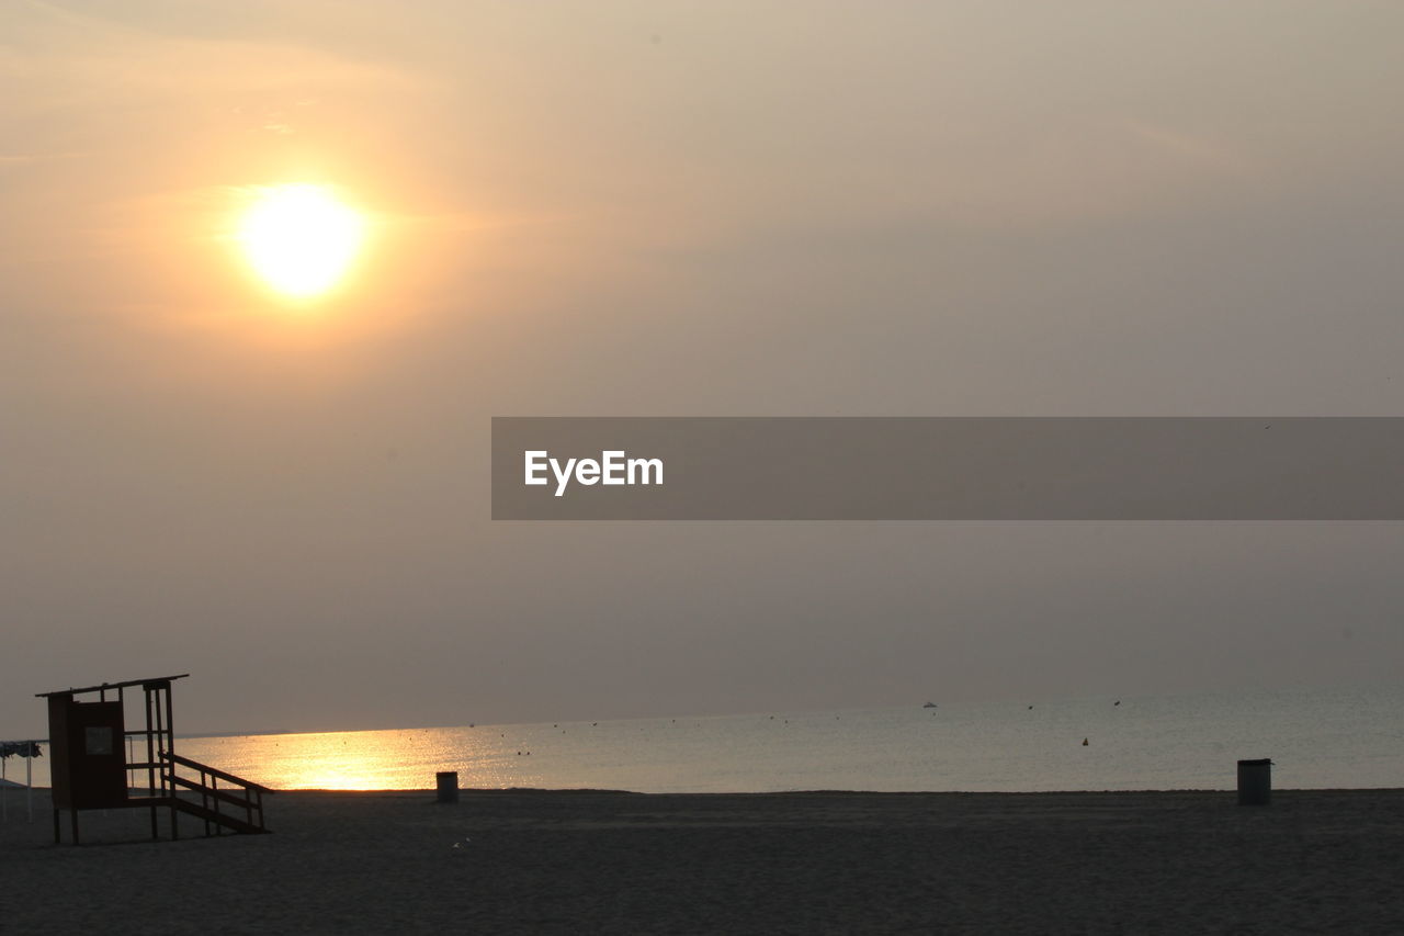
{"label": "dark wooden lifeguard hut with ramp on the sand", "polygon": [[[181,812],[201,819],[205,835],[268,831],[263,794],[271,790],[176,753],[171,683],[188,675],[38,693],[49,703],[55,843],[62,840],[62,810],[69,811],[74,845],[83,810],[150,810],[153,839],[160,838],[160,811],[170,812],[171,839],[180,838]],[[128,729],[126,690],[135,689],[143,694],[145,721]]]}

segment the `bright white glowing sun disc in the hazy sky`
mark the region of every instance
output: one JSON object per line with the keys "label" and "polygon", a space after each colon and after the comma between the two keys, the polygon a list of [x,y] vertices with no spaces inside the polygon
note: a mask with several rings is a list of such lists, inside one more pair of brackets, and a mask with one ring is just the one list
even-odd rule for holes
{"label": "bright white glowing sun disc in the hazy sky", "polygon": [[239,243],[254,273],[293,299],[336,287],[364,239],[365,219],[326,186],[261,188],[239,222]]}

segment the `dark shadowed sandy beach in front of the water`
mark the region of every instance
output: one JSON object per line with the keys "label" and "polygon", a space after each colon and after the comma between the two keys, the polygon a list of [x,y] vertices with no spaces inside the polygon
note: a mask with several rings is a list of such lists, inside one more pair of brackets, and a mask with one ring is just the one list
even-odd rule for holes
{"label": "dark shadowed sandy beach in front of the water", "polygon": [[1404,932],[1404,790],[279,793],[274,835],[86,812],[79,847],[41,802],[15,933]]}

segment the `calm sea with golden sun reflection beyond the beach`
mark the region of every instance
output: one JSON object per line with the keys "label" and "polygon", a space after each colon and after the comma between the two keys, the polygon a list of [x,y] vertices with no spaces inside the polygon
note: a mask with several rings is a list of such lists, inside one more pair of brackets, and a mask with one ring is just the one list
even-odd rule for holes
{"label": "calm sea with golden sun reflection beyond the beach", "polygon": [[[1404,683],[925,701],[177,738],[176,750],[282,790],[430,790],[439,772],[465,788],[639,793],[1231,790],[1240,759],[1271,759],[1278,788],[1404,787]],[[32,766],[46,786],[45,759]],[[8,777],[24,780],[18,759]]]}

